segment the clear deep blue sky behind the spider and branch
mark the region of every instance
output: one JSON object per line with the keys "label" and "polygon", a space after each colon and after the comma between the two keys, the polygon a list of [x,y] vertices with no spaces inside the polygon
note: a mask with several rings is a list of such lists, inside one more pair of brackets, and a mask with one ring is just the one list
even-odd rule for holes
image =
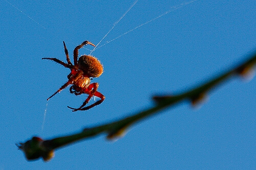
{"label": "clear deep blue sky behind the spider and branch", "polygon": [[[134,126],[116,142],[100,135],[57,150],[50,162],[28,162],[15,143],[79,132],[154,106],[247,58],[256,48],[255,1],[198,0],[96,50],[105,101],[71,112],[86,95],[69,88],[65,60],[84,40],[97,44],[134,1],[0,1],[0,169],[256,169],[256,79],[232,79],[200,109],[187,102]],[[110,41],[186,1],[138,1],[102,41]],[[22,11],[22,12],[20,12]],[[33,20],[32,20],[32,19]],[[89,47],[92,50],[92,47]],[[89,54],[82,49],[80,54]]]}

